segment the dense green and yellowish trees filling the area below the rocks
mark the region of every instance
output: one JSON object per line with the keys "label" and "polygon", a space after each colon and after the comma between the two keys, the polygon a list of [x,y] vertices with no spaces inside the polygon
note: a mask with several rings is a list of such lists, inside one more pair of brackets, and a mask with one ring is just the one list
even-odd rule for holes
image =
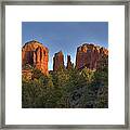
{"label": "dense green and yellowish trees filling the area below the rocks", "polygon": [[32,69],[31,80],[22,81],[23,108],[106,108],[108,67],[78,70],[61,67],[44,76]]}

